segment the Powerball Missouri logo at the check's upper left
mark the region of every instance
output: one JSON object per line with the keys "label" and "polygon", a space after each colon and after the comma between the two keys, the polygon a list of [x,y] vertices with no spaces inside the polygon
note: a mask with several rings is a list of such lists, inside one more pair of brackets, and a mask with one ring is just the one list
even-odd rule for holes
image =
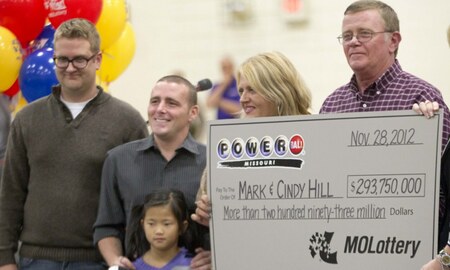
{"label": "Powerball Missouri logo at the check's upper left", "polygon": [[261,139],[249,137],[221,139],[217,144],[217,156],[223,160],[219,167],[292,167],[301,168],[303,161],[297,156],[303,152],[305,142],[299,134],[289,139],[285,135]]}

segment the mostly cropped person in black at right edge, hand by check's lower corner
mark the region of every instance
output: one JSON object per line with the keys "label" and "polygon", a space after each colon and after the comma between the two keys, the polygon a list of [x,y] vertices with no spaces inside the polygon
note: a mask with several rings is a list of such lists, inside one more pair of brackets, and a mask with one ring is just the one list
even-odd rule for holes
{"label": "mostly cropped person in black at right edge, hand by check's lower corner", "polygon": [[[447,28],[447,41],[450,47],[450,26]],[[447,226],[448,230],[449,220],[450,220],[450,146],[447,144],[447,147],[442,155],[441,159],[441,198],[444,197],[446,204],[446,212],[445,212],[445,220],[442,222],[444,226]],[[441,202],[442,203],[442,202]],[[440,224],[441,225],[441,224]],[[440,238],[444,238],[447,235],[441,233]],[[448,240],[445,247],[439,251],[439,254],[431,261],[422,266],[421,270],[441,270],[441,269],[450,269],[450,234],[448,234]]]}

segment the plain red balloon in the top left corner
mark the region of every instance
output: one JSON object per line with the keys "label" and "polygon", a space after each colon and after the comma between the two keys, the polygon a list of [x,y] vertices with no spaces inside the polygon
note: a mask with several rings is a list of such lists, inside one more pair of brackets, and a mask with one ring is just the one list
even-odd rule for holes
{"label": "plain red balloon in the top left corner", "polygon": [[44,0],[0,0],[0,25],[13,32],[22,47],[41,33],[46,18]]}

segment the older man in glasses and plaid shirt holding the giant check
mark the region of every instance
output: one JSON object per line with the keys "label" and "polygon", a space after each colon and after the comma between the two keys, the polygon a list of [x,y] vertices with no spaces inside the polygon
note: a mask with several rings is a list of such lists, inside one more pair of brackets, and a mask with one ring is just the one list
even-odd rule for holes
{"label": "older man in glasses and plaid shirt holding the giant check", "polygon": [[[449,109],[438,89],[401,68],[396,59],[402,39],[399,31],[397,14],[383,2],[361,0],[347,7],[338,41],[354,74],[349,83],[325,99],[320,113],[414,109],[431,117],[440,107],[444,152],[450,135]],[[439,248],[445,246],[448,236],[446,190],[441,180]]]}

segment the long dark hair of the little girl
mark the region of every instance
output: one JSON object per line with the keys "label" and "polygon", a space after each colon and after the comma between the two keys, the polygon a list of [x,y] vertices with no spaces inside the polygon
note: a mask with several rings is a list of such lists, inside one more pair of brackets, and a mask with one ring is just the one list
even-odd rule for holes
{"label": "long dark hair of the little girl", "polygon": [[151,207],[165,205],[170,206],[180,230],[183,230],[183,222],[185,220],[188,221],[188,228],[184,232],[181,232],[178,238],[178,246],[183,246],[189,253],[194,254],[195,239],[197,236],[192,230],[192,221],[189,218],[188,207],[183,192],[177,189],[159,189],[148,194],[143,204],[136,205],[131,210],[130,222],[127,226],[125,237],[125,255],[129,259],[136,260],[150,249],[150,244],[145,237],[145,232],[141,224],[145,213]]}

